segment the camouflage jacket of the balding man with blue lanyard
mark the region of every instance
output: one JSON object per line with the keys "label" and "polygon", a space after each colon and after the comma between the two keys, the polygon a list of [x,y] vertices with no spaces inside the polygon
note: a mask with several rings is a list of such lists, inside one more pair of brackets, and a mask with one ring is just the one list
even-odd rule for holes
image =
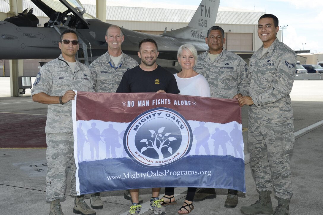
{"label": "camouflage jacket of the balding man with blue lanyard", "polygon": [[128,69],[138,66],[136,60],[123,52],[119,63],[118,66],[114,65],[108,51],[91,63],[89,68],[95,92],[115,93],[123,74]]}

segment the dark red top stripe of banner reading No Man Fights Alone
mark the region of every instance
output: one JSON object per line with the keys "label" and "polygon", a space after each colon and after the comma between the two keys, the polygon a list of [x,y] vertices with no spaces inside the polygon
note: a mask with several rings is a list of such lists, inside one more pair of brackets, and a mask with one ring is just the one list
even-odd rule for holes
{"label": "dark red top stripe of banner reading No Man Fights Alone", "polygon": [[236,99],[184,96],[171,93],[91,93],[77,92],[76,120],[131,122],[139,112],[165,107],[178,111],[186,120],[241,122]]}

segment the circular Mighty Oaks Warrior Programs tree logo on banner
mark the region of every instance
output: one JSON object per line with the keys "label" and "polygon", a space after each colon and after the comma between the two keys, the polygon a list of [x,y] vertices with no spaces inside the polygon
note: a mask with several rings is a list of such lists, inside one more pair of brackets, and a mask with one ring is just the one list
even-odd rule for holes
{"label": "circular Mighty Oaks Warrior Programs tree logo on banner", "polygon": [[136,117],[123,137],[124,148],[143,167],[166,166],[182,159],[191,149],[192,129],[170,108],[153,108]]}

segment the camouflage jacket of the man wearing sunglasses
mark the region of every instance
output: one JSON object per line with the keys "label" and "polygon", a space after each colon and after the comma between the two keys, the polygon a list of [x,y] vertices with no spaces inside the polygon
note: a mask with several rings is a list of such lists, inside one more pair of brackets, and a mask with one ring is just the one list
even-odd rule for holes
{"label": "camouflage jacket of the man wearing sunglasses", "polygon": [[[94,92],[92,86],[91,73],[86,65],[76,61],[73,74],[62,55],[60,55],[40,68],[31,90],[31,96],[41,92],[49,96],[63,96],[68,90]],[[71,100],[64,105],[48,105],[45,132],[73,132]]]}

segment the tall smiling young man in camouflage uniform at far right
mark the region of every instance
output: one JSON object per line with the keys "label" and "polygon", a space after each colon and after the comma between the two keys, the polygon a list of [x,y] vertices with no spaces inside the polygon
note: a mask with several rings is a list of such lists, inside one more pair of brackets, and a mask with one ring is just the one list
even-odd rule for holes
{"label": "tall smiling young man in camouflage uniform at far right", "polygon": [[[294,145],[292,90],[296,54],[278,41],[278,19],[265,14],[258,21],[258,36],[263,41],[251,57],[249,95],[238,99],[240,106],[250,105],[248,141],[252,171],[259,200],[241,207],[244,214],[289,215],[292,197],[288,155]],[[270,190],[274,185],[278,206],[272,208]]]}

